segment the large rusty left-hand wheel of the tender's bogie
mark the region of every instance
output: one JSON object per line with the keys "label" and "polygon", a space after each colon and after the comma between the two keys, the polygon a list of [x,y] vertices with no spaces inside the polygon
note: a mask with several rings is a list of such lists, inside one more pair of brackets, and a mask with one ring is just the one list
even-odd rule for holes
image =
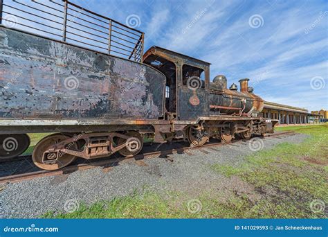
{"label": "large rusty left-hand wheel of the tender's bogie", "polygon": [[[53,146],[69,138],[69,136],[65,136],[63,134],[51,134],[39,141],[32,153],[32,160],[35,166],[42,168],[43,170],[57,170],[59,168],[63,168],[71,164],[76,159],[76,157],[69,154],[62,154],[60,157],[57,158],[57,162],[53,164],[44,164],[42,162],[44,152],[48,150],[50,146]],[[78,149],[78,145],[76,143],[73,143],[73,145],[70,145],[69,147],[70,149],[73,148],[73,150]]]}

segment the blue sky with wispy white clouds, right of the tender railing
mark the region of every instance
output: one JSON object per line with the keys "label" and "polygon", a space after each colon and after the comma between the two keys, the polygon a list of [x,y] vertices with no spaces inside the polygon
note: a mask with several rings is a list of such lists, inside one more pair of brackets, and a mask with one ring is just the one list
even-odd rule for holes
{"label": "blue sky with wispy white clouds, right of the tender railing", "polygon": [[212,63],[211,79],[250,78],[264,100],[328,109],[327,0],[71,1],[136,26],[145,50],[156,45]]}

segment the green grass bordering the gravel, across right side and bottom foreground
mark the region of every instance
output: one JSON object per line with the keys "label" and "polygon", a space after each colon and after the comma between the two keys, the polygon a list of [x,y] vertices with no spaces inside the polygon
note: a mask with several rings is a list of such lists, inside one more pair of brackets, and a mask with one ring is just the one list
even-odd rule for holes
{"label": "green grass bordering the gravel, across right side and bottom foreground", "polygon": [[[246,157],[242,164],[210,166],[227,179],[241,179],[252,193],[232,193],[225,200],[222,191],[198,193],[196,213],[188,211],[190,197],[171,192],[165,197],[146,190],[123,198],[80,204],[73,213],[48,212],[45,218],[327,218],[310,209],[313,200],[328,202],[328,125],[277,128],[309,134],[300,144],[280,143]],[[230,187],[227,187],[230,188]],[[253,199],[251,195],[259,195]],[[198,205],[198,206],[197,206]]]}

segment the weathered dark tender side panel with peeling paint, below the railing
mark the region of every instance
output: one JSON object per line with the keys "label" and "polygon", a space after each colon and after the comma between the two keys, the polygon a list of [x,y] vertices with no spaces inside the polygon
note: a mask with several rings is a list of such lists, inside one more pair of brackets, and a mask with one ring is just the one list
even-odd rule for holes
{"label": "weathered dark tender side panel with peeling paint, below the railing", "polygon": [[143,64],[0,28],[0,118],[157,119],[165,76]]}

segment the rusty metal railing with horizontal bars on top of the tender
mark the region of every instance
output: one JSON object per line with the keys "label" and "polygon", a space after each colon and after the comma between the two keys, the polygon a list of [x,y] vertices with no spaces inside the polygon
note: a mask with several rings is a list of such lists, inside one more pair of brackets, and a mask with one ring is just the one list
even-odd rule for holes
{"label": "rusty metal railing with horizontal bars on top of the tender", "polygon": [[0,24],[136,62],[143,59],[143,32],[67,0],[0,0]]}

